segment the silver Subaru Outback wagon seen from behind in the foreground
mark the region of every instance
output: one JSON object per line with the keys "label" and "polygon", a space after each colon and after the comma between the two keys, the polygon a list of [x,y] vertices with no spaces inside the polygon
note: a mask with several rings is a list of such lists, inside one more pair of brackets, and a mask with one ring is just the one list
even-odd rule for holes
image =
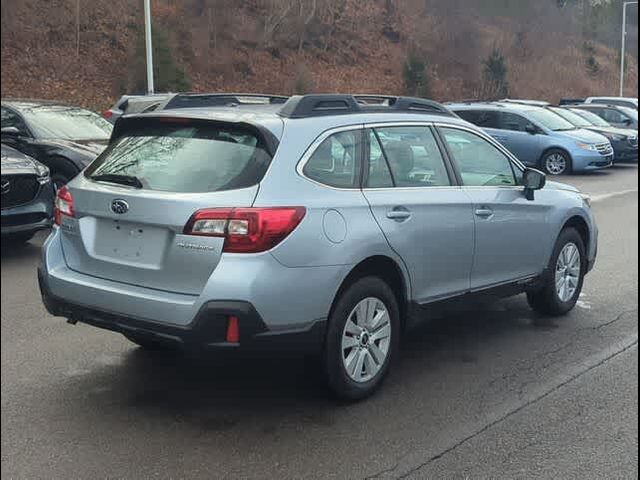
{"label": "silver Subaru Outback wagon seen from behind in the foreground", "polygon": [[576,189],[427,100],[250,100],[118,121],[58,193],[51,314],[143,348],[315,352],[359,399],[423,307],[574,308],[597,252]]}

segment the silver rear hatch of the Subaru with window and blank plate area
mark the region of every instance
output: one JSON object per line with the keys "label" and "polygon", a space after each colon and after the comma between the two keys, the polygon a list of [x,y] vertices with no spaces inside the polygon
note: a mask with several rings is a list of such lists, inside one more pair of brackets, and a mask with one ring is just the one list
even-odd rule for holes
{"label": "silver rear hatch of the Subaru with window and blank plate area", "polygon": [[250,207],[272,158],[248,125],[123,119],[109,148],[69,184],[62,247],[77,272],[199,294],[223,238],[185,235],[201,209]]}

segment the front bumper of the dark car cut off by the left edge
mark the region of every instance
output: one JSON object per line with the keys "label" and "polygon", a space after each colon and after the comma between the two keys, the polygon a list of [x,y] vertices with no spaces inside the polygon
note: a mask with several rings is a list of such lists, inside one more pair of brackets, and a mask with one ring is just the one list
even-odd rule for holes
{"label": "front bumper of the dark car cut off by the left edge", "polygon": [[36,232],[51,227],[53,216],[53,187],[48,183],[38,196],[26,205],[1,211],[2,235]]}

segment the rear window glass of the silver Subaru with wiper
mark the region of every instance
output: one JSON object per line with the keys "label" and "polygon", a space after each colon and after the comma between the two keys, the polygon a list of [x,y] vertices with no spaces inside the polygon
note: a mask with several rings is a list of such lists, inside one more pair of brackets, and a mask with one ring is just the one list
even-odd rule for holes
{"label": "rear window glass of the silver Subaru with wiper", "polygon": [[133,127],[89,167],[88,178],[130,177],[147,190],[218,192],[258,184],[271,162],[262,137],[249,128],[207,122]]}

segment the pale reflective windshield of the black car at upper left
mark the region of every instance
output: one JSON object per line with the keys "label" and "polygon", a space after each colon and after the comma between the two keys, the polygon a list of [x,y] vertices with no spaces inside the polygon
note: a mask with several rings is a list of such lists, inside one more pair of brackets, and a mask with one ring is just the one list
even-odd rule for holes
{"label": "pale reflective windshield of the black car at upper left", "polygon": [[37,138],[108,140],[113,126],[97,113],[78,107],[37,105],[20,113]]}

